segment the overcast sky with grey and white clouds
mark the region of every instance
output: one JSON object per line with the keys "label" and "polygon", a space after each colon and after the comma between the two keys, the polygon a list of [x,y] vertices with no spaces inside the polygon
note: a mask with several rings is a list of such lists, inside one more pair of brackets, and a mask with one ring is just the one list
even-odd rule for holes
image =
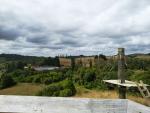
{"label": "overcast sky with grey and white clouds", "polygon": [[150,0],[0,0],[0,53],[150,52]]}

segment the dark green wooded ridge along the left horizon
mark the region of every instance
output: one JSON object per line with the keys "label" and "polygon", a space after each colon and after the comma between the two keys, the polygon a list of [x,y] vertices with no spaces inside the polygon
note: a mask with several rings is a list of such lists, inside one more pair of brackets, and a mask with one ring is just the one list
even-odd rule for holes
{"label": "dark green wooded ridge along the left horizon", "polygon": [[16,54],[0,54],[0,65],[8,64],[8,65],[18,65],[18,63],[27,65],[35,65],[35,66],[60,66],[59,58],[56,57],[36,57],[36,56],[22,56]]}

